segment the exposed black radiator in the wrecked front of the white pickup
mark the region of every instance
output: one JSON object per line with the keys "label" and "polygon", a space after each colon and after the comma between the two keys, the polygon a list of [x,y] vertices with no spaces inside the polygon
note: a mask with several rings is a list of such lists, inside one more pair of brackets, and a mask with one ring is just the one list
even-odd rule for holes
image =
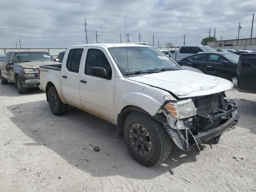
{"label": "exposed black radiator in the wrecked front of the white pickup", "polygon": [[211,114],[219,108],[219,94],[213,94],[208,96],[198,97],[196,100],[196,108],[198,109],[198,115]]}

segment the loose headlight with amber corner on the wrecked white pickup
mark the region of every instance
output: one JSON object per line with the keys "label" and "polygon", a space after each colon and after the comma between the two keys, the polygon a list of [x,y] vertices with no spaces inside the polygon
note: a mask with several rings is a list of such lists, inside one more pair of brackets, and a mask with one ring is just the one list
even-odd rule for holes
{"label": "loose headlight with amber corner on the wrecked white pickup", "polygon": [[168,103],[165,108],[168,109],[177,119],[188,118],[197,114],[196,107],[192,99],[171,102]]}

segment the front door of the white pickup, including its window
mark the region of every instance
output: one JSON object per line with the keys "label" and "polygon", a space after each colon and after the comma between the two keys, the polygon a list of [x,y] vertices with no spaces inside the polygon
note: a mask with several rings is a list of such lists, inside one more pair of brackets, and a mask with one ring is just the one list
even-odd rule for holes
{"label": "front door of the white pickup, including its window", "polygon": [[[88,112],[114,121],[115,70],[102,48],[88,48],[86,62],[80,72],[82,108]],[[92,67],[103,67],[108,78],[93,76]]]}

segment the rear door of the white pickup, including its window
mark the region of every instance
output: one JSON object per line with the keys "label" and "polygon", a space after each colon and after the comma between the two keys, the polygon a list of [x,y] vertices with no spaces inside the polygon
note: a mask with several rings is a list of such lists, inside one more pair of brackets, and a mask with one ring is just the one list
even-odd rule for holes
{"label": "rear door of the white pickup, including its window", "polygon": [[68,52],[66,65],[61,69],[61,86],[63,96],[69,104],[82,108],[80,100],[80,63],[82,61],[83,48],[73,48]]}

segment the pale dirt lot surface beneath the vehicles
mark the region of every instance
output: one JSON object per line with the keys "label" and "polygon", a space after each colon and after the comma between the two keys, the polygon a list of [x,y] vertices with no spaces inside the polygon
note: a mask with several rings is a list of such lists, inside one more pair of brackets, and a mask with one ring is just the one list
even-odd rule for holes
{"label": "pale dirt lot surface beneath the vehicles", "polygon": [[0,191],[256,191],[256,94],[226,94],[238,102],[236,129],[212,149],[203,144],[202,154],[173,145],[164,164],[147,168],[116,126],[72,107],[54,116],[40,90],[20,95],[1,84]]}

